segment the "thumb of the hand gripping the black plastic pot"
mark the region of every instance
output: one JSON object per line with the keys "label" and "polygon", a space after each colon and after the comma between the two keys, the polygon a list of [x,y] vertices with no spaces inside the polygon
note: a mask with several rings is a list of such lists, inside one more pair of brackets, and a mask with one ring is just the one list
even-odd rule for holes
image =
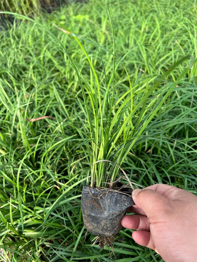
{"label": "thumb of the hand gripping the black plastic pot", "polygon": [[152,189],[137,188],[132,192],[132,198],[135,205],[141,208],[148,218],[169,210],[171,205],[168,198]]}

